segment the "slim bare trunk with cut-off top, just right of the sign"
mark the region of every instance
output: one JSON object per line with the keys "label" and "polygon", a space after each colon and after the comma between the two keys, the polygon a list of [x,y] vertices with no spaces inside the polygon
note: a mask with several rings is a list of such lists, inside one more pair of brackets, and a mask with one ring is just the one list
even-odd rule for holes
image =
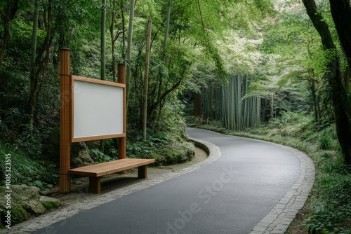
{"label": "slim bare trunk with cut-off top, just right of the sign", "polygon": [[152,21],[147,22],[146,53],[145,53],[145,76],[144,76],[144,109],[143,109],[143,140],[146,140],[147,125],[147,86],[149,85],[150,41]]}

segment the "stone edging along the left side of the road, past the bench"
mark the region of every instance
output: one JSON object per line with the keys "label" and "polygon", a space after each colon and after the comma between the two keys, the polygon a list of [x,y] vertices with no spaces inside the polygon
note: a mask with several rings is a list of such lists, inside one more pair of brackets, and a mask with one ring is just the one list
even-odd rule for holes
{"label": "stone edging along the left side of the road, past the bench", "polygon": [[[54,227],[51,226],[53,223],[62,221],[71,216],[74,216],[75,214],[84,212],[87,209],[97,207],[98,205],[102,205],[106,202],[110,202],[117,198],[121,198],[125,195],[134,193],[136,191],[140,191],[144,188],[153,186],[155,184],[159,184],[173,177],[178,177],[182,174],[192,172],[194,170],[199,169],[200,167],[204,167],[208,164],[211,164],[214,161],[218,160],[218,158],[220,158],[221,152],[218,146],[211,144],[209,142],[204,142],[200,139],[191,139],[191,141],[194,142],[194,144],[199,148],[204,149],[204,151],[208,153],[208,158],[201,161],[200,163],[191,165],[190,167],[186,167],[177,172],[169,172],[167,174],[163,174],[162,176],[154,177],[152,179],[140,180],[140,182],[138,183],[124,186],[123,188],[118,188],[115,191],[110,191],[105,194],[92,194],[92,193],[87,194],[84,191],[81,191],[82,195],[80,198],[76,198],[77,202],[74,202],[73,200],[72,204],[67,205],[67,207],[62,207],[61,209],[55,210],[48,214],[44,214],[34,219],[31,219],[29,221],[19,223],[18,225],[11,227],[10,230],[6,230],[6,229],[0,230],[0,233],[18,233],[18,234],[33,233],[34,231],[37,231],[41,228],[46,228],[43,231],[43,234],[56,233]],[[62,225],[64,225],[64,223]]]}

